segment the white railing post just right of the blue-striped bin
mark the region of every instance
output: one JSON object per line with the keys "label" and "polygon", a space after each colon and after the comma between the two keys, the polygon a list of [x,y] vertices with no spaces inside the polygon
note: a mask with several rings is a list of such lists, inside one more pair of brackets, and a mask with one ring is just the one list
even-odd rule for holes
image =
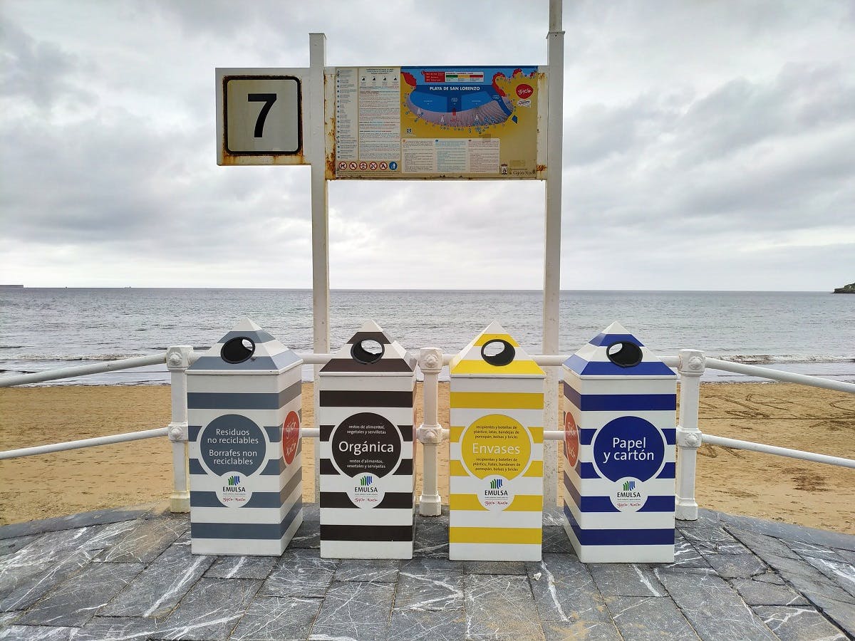
{"label": "white railing post just right of the blue-striped bin", "polygon": [[695,502],[695,463],[701,444],[698,428],[700,377],[706,367],[704,352],[680,350],[680,421],[677,425],[677,482],[675,516],[681,520],[698,519]]}

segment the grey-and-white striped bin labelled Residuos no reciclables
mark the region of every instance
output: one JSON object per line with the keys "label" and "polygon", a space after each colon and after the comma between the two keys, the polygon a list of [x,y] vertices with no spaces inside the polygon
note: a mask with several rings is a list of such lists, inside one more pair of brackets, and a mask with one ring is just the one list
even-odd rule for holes
{"label": "grey-and-white striped bin labelled Residuos no reciclables", "polygon": [[245,319],[187,369],[193,554],[279,556],[303,522],[302,364]]}

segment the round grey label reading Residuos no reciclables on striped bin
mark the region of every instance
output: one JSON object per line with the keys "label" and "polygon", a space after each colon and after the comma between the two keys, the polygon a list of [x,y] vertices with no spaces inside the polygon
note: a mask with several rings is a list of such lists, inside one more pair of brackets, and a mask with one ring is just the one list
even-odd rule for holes
{"label": "round grey label reading Residuos no reciclables on striped bin", "polygon": [[227,414],[205,426],[199,435],[199,452],[205,467],[216,476],[251,476],[267,457],[267,439],[253,420]]}

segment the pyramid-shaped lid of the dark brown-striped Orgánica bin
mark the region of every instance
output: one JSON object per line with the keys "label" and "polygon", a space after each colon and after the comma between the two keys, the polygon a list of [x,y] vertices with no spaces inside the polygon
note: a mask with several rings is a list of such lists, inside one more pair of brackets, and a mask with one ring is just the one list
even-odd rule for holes
{"label": "pyramid-shaped lid of the dark brown-striped Org\u00e1nica bin", "polygon": [[396,340],[392,340],[374,321],[365,321],[359,331],[321,368],[321,374],[346,375],[394,374],[412,375],[416,372],[416,358]]}

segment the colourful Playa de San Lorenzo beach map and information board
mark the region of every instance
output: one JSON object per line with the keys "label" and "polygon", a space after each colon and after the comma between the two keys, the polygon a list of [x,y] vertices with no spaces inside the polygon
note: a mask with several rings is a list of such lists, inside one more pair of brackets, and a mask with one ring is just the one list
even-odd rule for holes
{"label": "colourful Playa de San Lorenzo beach map and information board", "polygon": [[537,67],[335,72],[334,178],[534,179]]}

